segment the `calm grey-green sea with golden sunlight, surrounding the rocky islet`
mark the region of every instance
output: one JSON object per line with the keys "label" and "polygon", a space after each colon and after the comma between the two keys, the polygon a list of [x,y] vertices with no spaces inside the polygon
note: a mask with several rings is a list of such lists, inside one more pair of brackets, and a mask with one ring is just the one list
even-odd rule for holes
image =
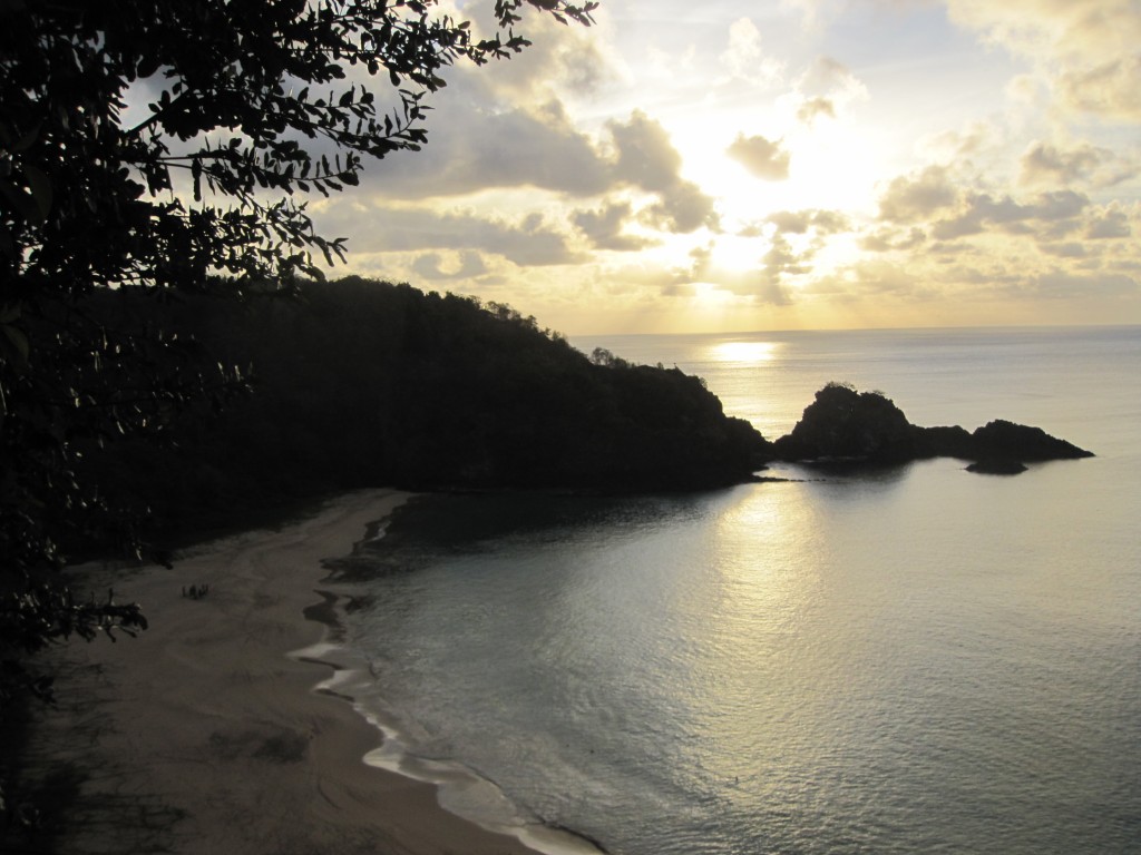
{"label": "calm grey-green sea with golden sunlight, surrounding the rocky islet", "polygon": [[1098,457],[415,502],[349,625],[374,762],[616,855],[1141,850],[1141,327],[574,344],[772,439],[835,380]]}

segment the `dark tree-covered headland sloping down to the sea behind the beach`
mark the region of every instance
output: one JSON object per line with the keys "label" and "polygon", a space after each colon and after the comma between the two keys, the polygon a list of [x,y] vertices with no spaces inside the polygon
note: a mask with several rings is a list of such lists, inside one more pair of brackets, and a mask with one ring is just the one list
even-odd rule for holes
{"label": "dark tree-covered headland sloping down to the sea behind the beach", "polygon": [[100,309],[250,367],[252,394],[217,417],[184,415],[167,447],[90,449],[105,491],[163,527],[378,484],[718,486],[747,479],[769,449],[699,378],[592,360],[505,306],[354,277],[245,306],[138,294]]}

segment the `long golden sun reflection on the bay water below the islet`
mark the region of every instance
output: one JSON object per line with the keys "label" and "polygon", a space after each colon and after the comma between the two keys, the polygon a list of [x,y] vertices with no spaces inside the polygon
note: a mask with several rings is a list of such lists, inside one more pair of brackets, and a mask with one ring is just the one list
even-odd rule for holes
{"label": "long golden sun reflection on the bay water below the islet", "polygon": [[771,797],[775,782],[792,774],[775,758],[822,742],[809,711],[817,692],[801,678],[817,656],[806,637],[820,596],[817,522],[795,484],[741,489],[715,522],[720,596],[690,674],[703,689],[691,727],[704,748],[694,749],[702,785],[725,804],[744,808]]}

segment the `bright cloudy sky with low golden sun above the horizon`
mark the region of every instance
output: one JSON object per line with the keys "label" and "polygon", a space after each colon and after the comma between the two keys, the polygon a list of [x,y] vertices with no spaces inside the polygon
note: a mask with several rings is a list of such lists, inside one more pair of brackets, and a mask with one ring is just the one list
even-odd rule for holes
{"label": "bright cloudy sky with low golden sun above the horizon", "polygon": [[[477,30],[491,0],[445,0]],[[1141,0],[601,0],[310,204],[568,335],[1141,323]]]}

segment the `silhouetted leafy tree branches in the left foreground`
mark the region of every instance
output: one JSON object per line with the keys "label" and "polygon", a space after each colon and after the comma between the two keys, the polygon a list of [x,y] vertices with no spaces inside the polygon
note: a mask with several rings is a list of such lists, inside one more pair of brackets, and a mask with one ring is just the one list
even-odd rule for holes
{"label": "silhouetted leafy tree branches in the left foreground", "polygon": [[528,6],[594,8],[496,0],[479,36],[436,0],[0,0],[0,723],[14,694],[48,692],[29,653],[145,625],[55,573],[62,544],[138,544],[81,451],[161,438],[245,386],[185,333],[89,298],[318,276],[345,247],[300,199],[416,150],[444,68],[521,50]]}

